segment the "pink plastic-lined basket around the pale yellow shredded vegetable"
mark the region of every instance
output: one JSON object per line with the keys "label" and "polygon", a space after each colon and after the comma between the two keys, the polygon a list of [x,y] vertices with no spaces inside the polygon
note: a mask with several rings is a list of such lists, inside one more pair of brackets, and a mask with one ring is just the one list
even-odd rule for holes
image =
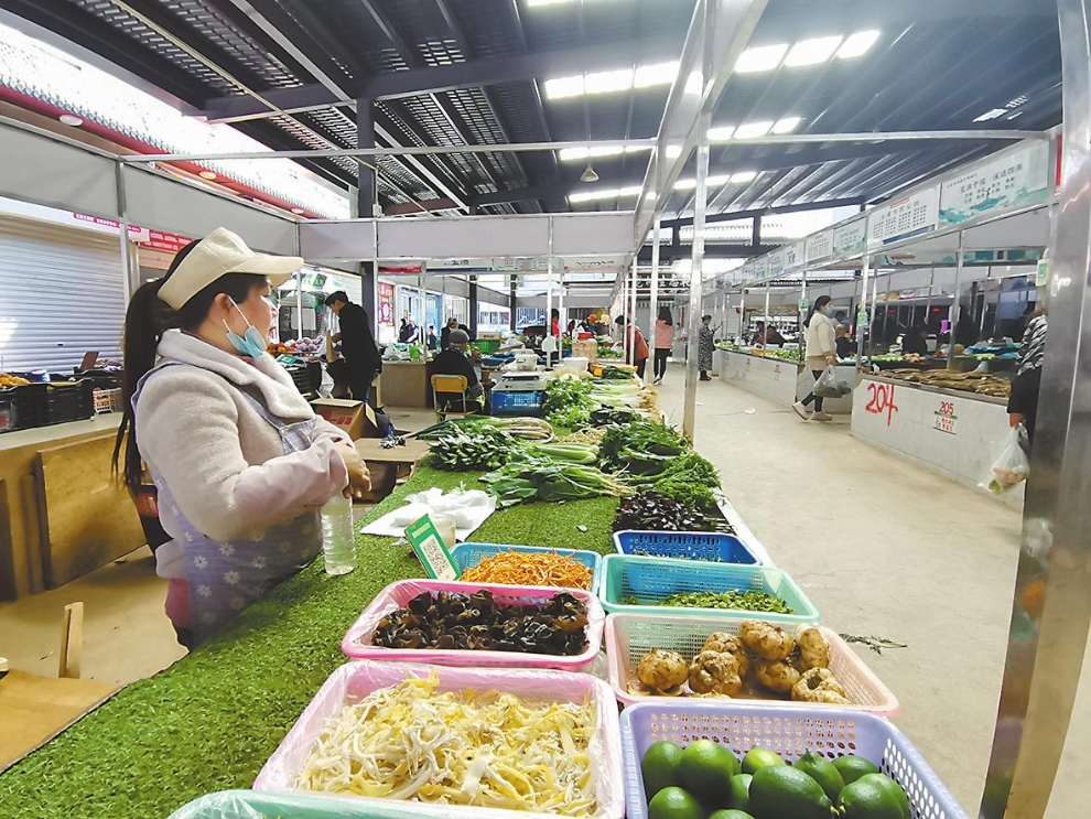
{"label": "pink plastic-lined basket around the pale yellow shredded vegetable", "polygon": [[[474,653],[478,654],[478,653]],[[519,669],[439,668],[408,662],[374,662],[356,660],[346,662],[334,671],[318,689],[318,693],[295,721],[283,742],[261,768],[253,783],[255,790],[301,793],[295,780],[326,720],[344,705],[359,702],[372,691],[395,686],[412,675],[428,677],[436,671],[440,691],[498,691],[538,702],[590,702],[597,714],[595,735],[588,747],[595,777],[595,797],[598,809],[596,819],[622,819],[625,813],[625,778],[617,721],[617,705],[613,692],[602,680],[583,673]],[[432,802],[366,799],[339,797],[358,805],[377,807],[398,805],[429,819],[514,819],[526,816],[520,811],[489,808],[471,808]]]}

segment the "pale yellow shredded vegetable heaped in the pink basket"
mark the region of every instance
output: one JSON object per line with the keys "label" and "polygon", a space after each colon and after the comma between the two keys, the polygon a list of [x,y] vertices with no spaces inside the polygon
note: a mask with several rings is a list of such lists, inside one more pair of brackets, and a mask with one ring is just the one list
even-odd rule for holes
{"label": "pale yellow shredded vegetable heaped in the pink basket", "polygon": [[438,693],[438,686],[433,671],[346,705],[326,721],[296,787],[574,817],[595,812],[594,703],[529,705],[495,691]]}

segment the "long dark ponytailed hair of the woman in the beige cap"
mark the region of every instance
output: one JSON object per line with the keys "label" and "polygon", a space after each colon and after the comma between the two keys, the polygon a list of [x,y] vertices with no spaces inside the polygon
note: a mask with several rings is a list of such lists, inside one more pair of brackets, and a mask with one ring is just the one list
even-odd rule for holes
{"label": "long dark ponytailed hair of the woman in the beige cap", "polygon": [[[132,395],[137,385],[155,366],[155,349],[163,333],[168,330],[196,330],[208,316],[213,301],[220,293],[227,293],[241,304],[250,298],[250,292],[266,283],[266,277],[253,273],[227,273],[212,284],[197,291],[182,305],[172,310],[159,298],[159,290],[179,269],[199,239],[191,241],[179,250],[162,279],[141,284],[129,300],[125,314],[125,337],[121,341],[121,355],[125,370],[121,376],[122,411],[121,424],[114,440],[114,474],[119,472],[130,491],[136,492],[143,484],[143,462],[137,449],[137,423],[132,410]],[[122,450],[125,456],[122,459]]]}

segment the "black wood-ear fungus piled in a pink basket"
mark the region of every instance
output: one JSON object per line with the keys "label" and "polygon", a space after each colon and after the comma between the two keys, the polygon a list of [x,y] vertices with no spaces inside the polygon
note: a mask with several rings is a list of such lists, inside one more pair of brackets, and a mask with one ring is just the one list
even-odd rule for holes
{"label": "black wood-ear fungus piled in a pink basket", "polygon": [[587,647],[587,607],[568,592],[549,603],[501,607],[487,590],[421,592],[379,621],[371,644],[385,648],[525,651],[571,657]]}

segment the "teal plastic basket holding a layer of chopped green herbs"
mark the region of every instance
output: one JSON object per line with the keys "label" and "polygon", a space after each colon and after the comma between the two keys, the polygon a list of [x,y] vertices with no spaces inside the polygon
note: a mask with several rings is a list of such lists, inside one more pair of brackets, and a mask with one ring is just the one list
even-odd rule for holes
{"label": "teal plastic basket holding a layer of chopped green herbs", "polygon": [[[730,591],[775,594],[791,606],[792,614],[752,612],[761,619],[793,625],[819,622],[818,610],[796,581],[787,572],[769,565],[607,554],[603,558],[603,575],[598,581],[598,596],[607,612],[669,614],[680,617],[746,614],[739,610],[658,605],[659,601],[680,592]],[[627,597],[635,597],[637,602],[623,603]]]}

